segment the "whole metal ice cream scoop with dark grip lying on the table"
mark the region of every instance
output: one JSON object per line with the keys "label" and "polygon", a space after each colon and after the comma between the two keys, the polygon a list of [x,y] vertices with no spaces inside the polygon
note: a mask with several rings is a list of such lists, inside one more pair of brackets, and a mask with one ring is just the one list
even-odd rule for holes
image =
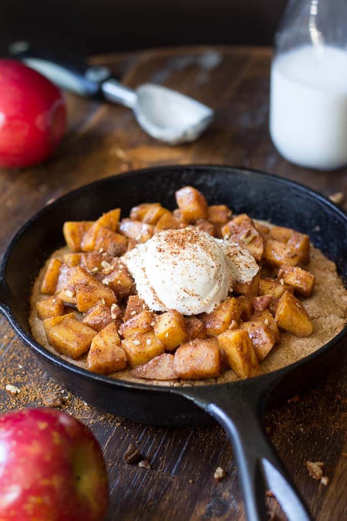
{"label": "whole metal ice cream scoop with dark grip lying on the table", "polygon": [[9,54],[62,89],[131,108],[145,132],[170,145],[195,141],[213,119],[213,110],[191,97],[153,83],[129,89],[107,67],[88,67],[79,57],[37,51],[22,41],[12,43]]}

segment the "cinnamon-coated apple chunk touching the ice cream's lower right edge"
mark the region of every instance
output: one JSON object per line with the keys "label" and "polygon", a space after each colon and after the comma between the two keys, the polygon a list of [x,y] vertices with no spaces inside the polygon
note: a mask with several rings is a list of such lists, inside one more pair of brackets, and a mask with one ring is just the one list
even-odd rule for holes
{"label": "cinnamon-coated apple chunk touching the ice cream's lower right edge", "polygon": [[228,297],[211,313],[204,316],[203,321],[209,337],[216,337],[228,329],[232,320],[239,320],[241,309],[235,297]]}

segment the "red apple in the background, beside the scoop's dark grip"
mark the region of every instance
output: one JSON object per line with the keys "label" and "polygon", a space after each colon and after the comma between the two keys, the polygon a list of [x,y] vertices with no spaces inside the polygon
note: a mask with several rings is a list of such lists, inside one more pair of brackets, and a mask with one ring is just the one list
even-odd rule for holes
{"label": "red apple in the background, beside the scoop's dark grip", "polygon": [[0,166],[42,162],[65,127],[66,107],[57,87],[20,61],[0,59]]}

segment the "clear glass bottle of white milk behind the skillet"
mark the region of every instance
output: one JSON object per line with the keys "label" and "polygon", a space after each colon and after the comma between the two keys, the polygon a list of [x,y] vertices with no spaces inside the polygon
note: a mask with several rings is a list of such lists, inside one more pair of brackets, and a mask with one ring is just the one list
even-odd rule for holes
{"label": "clear glass bottle of white milk behind the skillet", "polygon": [[347,165],[347,0],[291,0],[275,36],[270,133],[291,163]]}

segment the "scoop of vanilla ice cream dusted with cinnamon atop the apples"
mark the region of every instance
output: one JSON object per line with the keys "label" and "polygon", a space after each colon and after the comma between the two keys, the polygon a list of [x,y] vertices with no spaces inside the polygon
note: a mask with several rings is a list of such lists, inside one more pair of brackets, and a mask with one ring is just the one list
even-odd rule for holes
{"label": "scoop of vanilla ice cream dusted with cinnamon atop the apples", "polygon": [[197,228],[157,233],[122,261],[150,309],[183,315],[211,312],[233,281],[249,282],[259,271],[248,251]]}

